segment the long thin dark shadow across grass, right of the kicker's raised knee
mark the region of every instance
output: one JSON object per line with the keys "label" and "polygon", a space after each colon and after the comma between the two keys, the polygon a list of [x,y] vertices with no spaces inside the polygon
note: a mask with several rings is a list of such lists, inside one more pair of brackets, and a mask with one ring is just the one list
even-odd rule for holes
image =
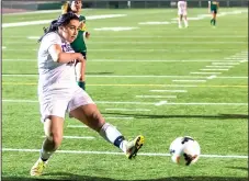
{"label": "long thin dark shadow across grass, right of the kicker's raised knee", "polygon": [[155,115],[155,114],[127,114],[127,113],[116,113],[116,112],[102,112],[102,114],[113,114],[121,116],[133,116],[135,118],[212,118],[212,120],[234,120],[234,118],[246,118],[248,120],[247,114],[217,114],[217,115],[174,115],[174,114],[165,114],[165,115]]}

